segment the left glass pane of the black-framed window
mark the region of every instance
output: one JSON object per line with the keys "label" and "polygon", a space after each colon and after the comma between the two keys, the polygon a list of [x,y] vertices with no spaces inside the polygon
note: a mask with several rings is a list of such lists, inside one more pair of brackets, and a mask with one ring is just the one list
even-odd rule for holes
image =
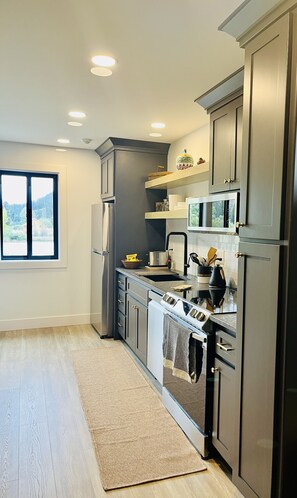
{"label": "left glass pane of the black-framed window", "polygon": [[2,176],[3,256],[27,256],[27,178]]}

